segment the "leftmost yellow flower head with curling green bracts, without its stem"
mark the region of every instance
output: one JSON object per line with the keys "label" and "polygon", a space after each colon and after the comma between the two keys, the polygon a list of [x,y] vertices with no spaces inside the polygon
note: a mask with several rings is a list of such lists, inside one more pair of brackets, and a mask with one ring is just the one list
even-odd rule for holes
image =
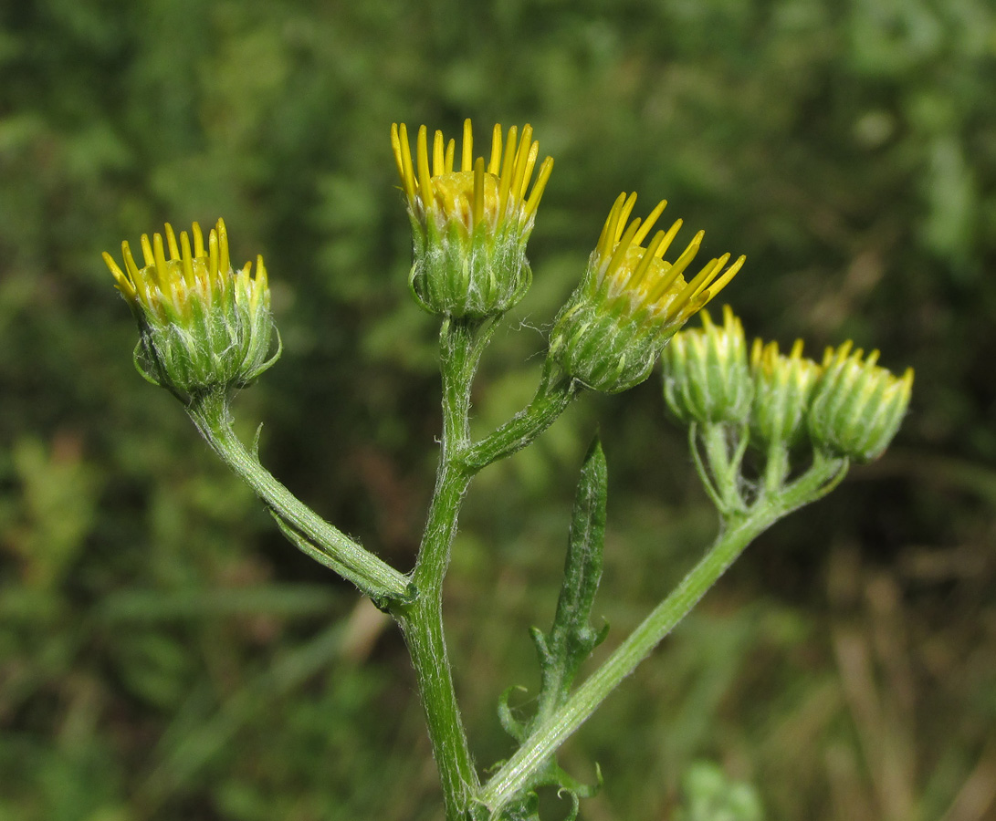
{"label": "leftmost yellow flower head with curling green bracts, without its stem", "polygon": [[[274,331],[263,258],[233,271],[225,224],[218,220],[207,248],[193,224],[193,248],[185,231],[166,225],[162,235],[141,237],[145,265],[139,268],[122,244],[124,271],[110,254],[104,261],[138,321],[141,338],[135,365],[150,382],[181,401],[205,392],[248,385],[280,356],[270,356]],[[168,250],[169,259],[165,252]]]}

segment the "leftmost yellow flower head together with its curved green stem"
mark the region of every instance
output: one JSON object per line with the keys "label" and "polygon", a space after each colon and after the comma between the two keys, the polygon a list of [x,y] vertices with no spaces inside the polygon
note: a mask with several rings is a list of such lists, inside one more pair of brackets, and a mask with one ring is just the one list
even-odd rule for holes
{"label": "leftmost yellow flower head together with its curved green stem", "polygon": [[231,395],[280,356],[279,344],[270,353],[276,329],[266,268],[257,257],[255,276],[249,263],[232,269],[221,220],[206,244],[197,223],[191,234],[192,242],[185,231],[177,238],[167,224],[165,239],[142,235],[140,268],[126,242],[124,269],[104,255],[138,322],[138,371],[184,403],[215,452],[266,501],[304,552],[374,598],[403,598],[408,582],[400,573],[295,499],[232,431]]}

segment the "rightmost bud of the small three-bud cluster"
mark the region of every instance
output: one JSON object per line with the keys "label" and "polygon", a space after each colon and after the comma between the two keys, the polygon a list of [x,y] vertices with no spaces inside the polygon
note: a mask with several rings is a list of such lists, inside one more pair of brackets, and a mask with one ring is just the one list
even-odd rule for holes
{"label": "rightmost bud of the small three-bud cluster", "polygon": [[878,351],[862,360],[861,348],[851,352],[848,341],[827,348],[823,375],[810,403],[809,430],[813,442],[856,462],[871,462],[892,441],[909,405],[913,369],[901,378],[878,367]]}

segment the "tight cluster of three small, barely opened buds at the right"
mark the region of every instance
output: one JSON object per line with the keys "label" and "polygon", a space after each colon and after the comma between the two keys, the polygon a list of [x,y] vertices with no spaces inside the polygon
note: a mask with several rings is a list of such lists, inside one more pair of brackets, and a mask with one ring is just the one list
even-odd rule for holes
{"label": "tight cluster of three small, barely opened buds at the right", "polygon": [[865,358],[852,343],[828,348],[822,364],[777,342],[754,341],[750,359],[743,328],[724,307],[724,322],[702,312],[702,327],[671,339],[663,361],[664,399],[685,424],[747,426],[762,450],[791,448],[809,438],[830,456],[870,462],[888,447],[909,405],[912,369],[901,377]]}

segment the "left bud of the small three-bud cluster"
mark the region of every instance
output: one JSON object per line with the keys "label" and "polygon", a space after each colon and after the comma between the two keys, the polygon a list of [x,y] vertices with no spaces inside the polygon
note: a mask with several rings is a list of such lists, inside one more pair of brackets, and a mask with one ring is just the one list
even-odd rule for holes
{"label": "left bud of the small three-bud cluster", "polygon": [[664,401],[684,424],[743,424],[753,385],[743,325],[729,306],[723,324],[702,311],[702,327],[682,330],[664,348]]}

